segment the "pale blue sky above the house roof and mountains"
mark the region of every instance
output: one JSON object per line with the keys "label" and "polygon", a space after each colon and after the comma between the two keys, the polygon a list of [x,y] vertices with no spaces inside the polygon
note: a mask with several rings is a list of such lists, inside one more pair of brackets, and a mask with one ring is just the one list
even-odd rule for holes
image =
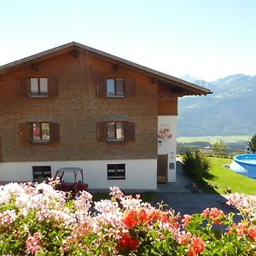
{"label": "pale blue sky above the house roof and mountains", "polygon": [[0,4],[0,65],[76,41],[177,77],[256,74],[254,0]]}

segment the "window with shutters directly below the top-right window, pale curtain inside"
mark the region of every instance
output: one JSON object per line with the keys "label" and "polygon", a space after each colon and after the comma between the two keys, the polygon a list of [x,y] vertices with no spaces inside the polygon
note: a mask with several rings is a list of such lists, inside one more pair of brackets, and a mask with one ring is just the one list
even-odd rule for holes
{"label": "window with shutters directly below the top-right window, pale curtain inside", "polygon": [[135,140],[135,124],[125,121],[97,123],[97,140],[100,142],[129,142]]}

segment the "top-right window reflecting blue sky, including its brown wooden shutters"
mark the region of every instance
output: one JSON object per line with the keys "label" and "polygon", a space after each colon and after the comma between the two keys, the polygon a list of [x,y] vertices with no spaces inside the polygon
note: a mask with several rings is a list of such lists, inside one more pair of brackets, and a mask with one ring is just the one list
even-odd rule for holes
{"label": "top-right window reflecting blue sky, including its brown wooden shutters", "polygon": [[133,78],[98,78],[96,79],[96,96],[128,97],[134,96],[135,79]]}

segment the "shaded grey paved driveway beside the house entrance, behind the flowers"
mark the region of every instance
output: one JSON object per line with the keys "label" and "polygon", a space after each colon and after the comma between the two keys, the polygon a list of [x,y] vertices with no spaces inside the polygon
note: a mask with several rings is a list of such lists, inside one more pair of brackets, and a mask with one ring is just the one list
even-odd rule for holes
{"label": "shaded grey paved driveway beside the house entrance, behind the flowers", "polygon": [[184,176],[181,160],[177,159],[177,182],[160,183],[157,186],[157,195],[153,205],[158,202],[171,207],[175,212],[181,214],[201,213],[207,207],[218,207],[225,213],[236,211],[225,205],[227,201],[223,195],[206,194],[201,189],[191,192],[191,180]]}

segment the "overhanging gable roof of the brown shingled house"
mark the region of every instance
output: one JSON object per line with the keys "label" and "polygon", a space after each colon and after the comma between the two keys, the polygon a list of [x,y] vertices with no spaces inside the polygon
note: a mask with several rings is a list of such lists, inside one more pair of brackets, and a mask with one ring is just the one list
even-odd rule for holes
{"label": "overhanging gable roof of the brown shingled house", "polygon": [[180,96],[207,95],[209,93],[212,93],[211,90],[208,90],[207,88],[201,87],[197,84],[192,84],[192,83],[189,83],[182,79],[177,79],[176,77],[173,77],[166,73],[161,73],[161,72],[151,69],[149,67],[144,67],[135,62],[127,61],[125,59],[119,58],[118,56],[111,55],[111,54],[103,52],[99,49],[94,49],[94,48],[91,48],[84,44],[79,44],[76,42],[71,42],[69,44],[63,44],[63,45],[55,47],[53,49],[45,50],[36,55],[31,55],[24,59],[20,59],[18,61],[13,61],[8,64],[5,64],[0,67],[0,75],[2,75],[4,73],[9,73],[12,70],[15,70],[19,67],[25,67],[28,65],[32,65],[38,61],[43,61],[43,60],[49,59],[53,55],[61,55],[63,53],[67,53],[67,52],[73,51],[73,50],[78,50],[78,51],[85,50],[85,51],[90,52],[93,55],[97,55],[98,57],[101,57],[110,62],[113,62],[114,64],[129,67],[131,69],[135,69],[137,72],[140,72],[140,73],[145,73],[145,74],[151,76],[154,81],[159,81],[160,83],[165,84],[166,86],[170,86],[170,87],[174,86],[175,88],[180,89]]}

